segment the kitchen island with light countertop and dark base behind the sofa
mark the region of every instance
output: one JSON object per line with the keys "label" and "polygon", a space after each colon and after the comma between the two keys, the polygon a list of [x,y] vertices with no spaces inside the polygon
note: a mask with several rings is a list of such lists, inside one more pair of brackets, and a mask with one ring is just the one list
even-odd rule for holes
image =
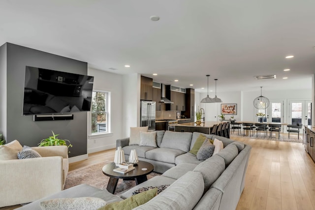
{"label": "kitchen island with light countertop and dark base behind the sofa", "polygon": [[187,122],[175,125],[175,131],[177,132],[200,132],[210,134],[213,125],[219,124],[219,121],[206,121],[197,125],[195,122]]}

